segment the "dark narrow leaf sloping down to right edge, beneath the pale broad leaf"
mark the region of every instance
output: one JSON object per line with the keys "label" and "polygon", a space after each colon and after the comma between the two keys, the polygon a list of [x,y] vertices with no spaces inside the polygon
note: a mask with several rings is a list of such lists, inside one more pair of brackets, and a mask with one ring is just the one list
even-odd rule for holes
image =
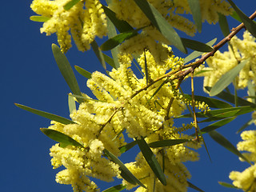
{"label": "dark narrow leaf sloping down to right edge, beneath the pale broad leaf", "polygon": [[[211,88],[207,86],[207,87],[205,87],[205,89],[210,91]],[[234,94],[230,94],[230,93],[227,93],[225,91],[222,91],[221,93],[217,94],[216,97],[222,98],[226,102],[231,102],[231,103],[234,104]],[[245,99],[238,97],[238,106],[252,106],[252,107],[255,107],[256,104],[254,104],[252,102],[248,102]]]}

